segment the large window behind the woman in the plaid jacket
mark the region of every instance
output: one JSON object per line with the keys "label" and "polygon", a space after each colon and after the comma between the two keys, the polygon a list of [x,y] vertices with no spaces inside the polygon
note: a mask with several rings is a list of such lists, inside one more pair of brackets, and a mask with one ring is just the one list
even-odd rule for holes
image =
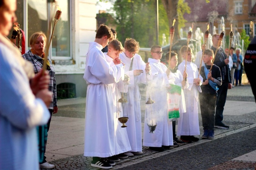
{"label": "large window behind the woman in the plaid jacket", "polygon": [[[17,22],[20,24],[20,28],[24,30],[24,14],[27,11],[27,44],[28,49],[29,37],[38,31],[42,31],[47,36],[48,28],[48,13],[51,9],[52,16],[52,29],[54,26],[54,16],[57,11],[57,5],[52,3],[52,5],[47,4],[47,0],[27,0],[27,9],[24,8],[24,0],[17,0]],[[70,0],[61,0],[58,1],[59,10],[62,14],[60,20],[57,22],[52,43],[51,50],[49,51],[49,56],[54,60],[65,60],[71,59],[71,22],[70,22]],[[48,35],[47,38],[50,38],[51,35]]]}

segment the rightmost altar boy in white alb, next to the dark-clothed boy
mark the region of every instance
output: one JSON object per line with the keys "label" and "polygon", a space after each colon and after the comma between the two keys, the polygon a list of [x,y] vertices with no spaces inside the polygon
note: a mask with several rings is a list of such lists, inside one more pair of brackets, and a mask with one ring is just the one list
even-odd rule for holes
{"label": "rightmost altar boy in white alb, next to the dark-clothed boy", "polygon": [[[178,69],[183,73],[186,67],[187,80],[189,86],[184,89],[186,113],[181,113],[178,120],[177,136],[181,136],[183,142],[198,141],[194,135],[200,135],[199,120],[198,120],[198,99],[199,92],[202,92],[201,85],[203,78],[199,75],[196,64],[191,62],[192,49],[187,46],[181,47],[182,63]],[[186,62],[187,58],[187,62]]]}

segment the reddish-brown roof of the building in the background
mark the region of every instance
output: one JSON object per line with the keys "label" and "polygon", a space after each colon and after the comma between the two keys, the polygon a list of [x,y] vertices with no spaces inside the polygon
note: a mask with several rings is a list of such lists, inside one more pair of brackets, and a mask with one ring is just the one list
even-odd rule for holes
{"label": "reddish-brown roof of the building in the background", "polygon": [[[228,1],[210,0],[185,0],[190,7],[190,14],[184,14],[184,18],[188,22],[209,22],[218,16],[226,16],[228,14]],[[219,18],[219,17],[218,17]]]}

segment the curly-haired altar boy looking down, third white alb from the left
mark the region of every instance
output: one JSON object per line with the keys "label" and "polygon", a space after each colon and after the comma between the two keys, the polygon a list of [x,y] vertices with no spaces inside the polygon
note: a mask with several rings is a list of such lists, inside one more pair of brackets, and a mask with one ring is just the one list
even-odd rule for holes
{"label": "curly-haired altar boy looking down, third white alb from the left", "polygon": [[126,39],[124,48],[125,51],[120,54],[120,59],[125,63],[125,74],[130,77],[130,84],[126,86],[128,87],[128,92],[122,92],[127,92],[128,102],[124,104],[124,113],[127,112],[127,117],[129,117],[126,123],[126,130],[131,145],[131,152],[125,154],[133,156],[133,154],[139,155],[143,153],[139,84],[142,82],[145,83],[146,71],[150,71],[150,66],[148,63],[145,64],[141,56],[137,54],[140,46],[135,39]]}

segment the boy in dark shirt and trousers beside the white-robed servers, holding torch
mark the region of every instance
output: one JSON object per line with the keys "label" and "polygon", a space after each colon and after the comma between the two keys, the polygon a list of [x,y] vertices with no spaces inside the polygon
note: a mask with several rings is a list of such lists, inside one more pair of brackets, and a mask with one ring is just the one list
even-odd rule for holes
{"label": "boy in dark shirt and trousers beside the white-robed servers, holding torch", "polygon": [[[215,64],[212,65],[214,58],[213,50],[204,51],[203,62],[200,74],[203,77],[202,93],[199,95],[200,108],[203,122],[202,139],[214,139],[215,108],[218,86],[222,85],[221,70]],[[212,70],[210,71],[212,65]]]}

